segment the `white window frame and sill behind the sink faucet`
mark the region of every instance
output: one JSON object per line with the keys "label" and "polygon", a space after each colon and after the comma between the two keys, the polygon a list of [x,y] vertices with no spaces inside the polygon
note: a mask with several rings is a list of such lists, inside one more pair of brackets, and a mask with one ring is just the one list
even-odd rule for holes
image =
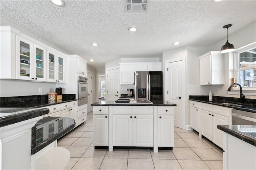
{"label": "white window frame and sill behind the sink faucet", "polygon": [[[238,83],[238,72],[239,71],[256,68],[256,66],[239,68],[240,67],[239,54],[246,52],[250,49],[254,49],[254,48],[256,48],[256,42],[253,42],[253,43],[250,43],[243,47],[240,47],[233,52],[234,53],[234,77],[236,77],[236,83]],[[240,91],[240,89],[232,90],[232,92],[229,92],[228,94],[237,94],[238,91]],[[256,87],[243,87],[243,91],[244,91],[244,94],[246,94],[246,95],[255,95],[256,96]]]}

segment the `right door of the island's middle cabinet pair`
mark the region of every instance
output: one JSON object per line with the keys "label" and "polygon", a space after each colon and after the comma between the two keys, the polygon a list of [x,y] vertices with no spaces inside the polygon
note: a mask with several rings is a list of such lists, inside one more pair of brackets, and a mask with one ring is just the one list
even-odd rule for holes
{"label": "right door of the island's middle cabinet pair", "polygon": [[153,147],[153,115],[133,115],[133,146]]}

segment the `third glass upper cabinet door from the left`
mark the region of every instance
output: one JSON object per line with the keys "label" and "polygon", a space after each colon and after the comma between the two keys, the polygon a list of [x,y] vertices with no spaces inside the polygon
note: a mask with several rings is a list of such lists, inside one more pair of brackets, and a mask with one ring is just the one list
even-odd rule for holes
{"label": "third glass upper cabinet door from the left", "polygon": [[[56,76],[55,76],[55,56],[56,54],[49,51],[47,52],[47,58],[48,58],[48,64],[47,64],[47,81],[55,82]],[[58,62],[58,61],[57,61]]]}

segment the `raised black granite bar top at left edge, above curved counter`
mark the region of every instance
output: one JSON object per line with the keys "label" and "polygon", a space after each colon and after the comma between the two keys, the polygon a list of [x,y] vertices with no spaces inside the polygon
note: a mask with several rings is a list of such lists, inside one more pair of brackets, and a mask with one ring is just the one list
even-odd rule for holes
{"label": "raised black granite bar top at left edge, above curved counter", "polygon": [[4,126],[7,126],[7,125],[12,125],[14,123],[26,121],[28,119],[32,119],[32,118],[35,118],[35,117],[46,115],[48,113],[49,113],[49,109],[42,108],[42,109],[27,111],[27,112],[24,112],[24,113],[8,115],[8,116],[2,117],[0,119],[0,127],[4,127]]}

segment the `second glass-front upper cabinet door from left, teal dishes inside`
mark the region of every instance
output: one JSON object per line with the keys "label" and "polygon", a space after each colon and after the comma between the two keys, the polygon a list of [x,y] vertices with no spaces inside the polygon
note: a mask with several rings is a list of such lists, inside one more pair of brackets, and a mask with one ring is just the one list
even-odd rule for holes
{"label": "second glass-front upper cabinet door from left, teal dishes inside", "polygon": [[46,81],[46,48],[34,44],[34,54],[35,59],[34,65],[34,75],[32,79]]}

